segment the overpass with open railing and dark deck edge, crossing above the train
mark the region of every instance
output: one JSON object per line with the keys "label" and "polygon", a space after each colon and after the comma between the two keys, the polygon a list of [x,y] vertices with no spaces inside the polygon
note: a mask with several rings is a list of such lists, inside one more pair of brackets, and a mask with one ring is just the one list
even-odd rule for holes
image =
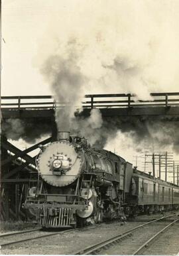
{"label": "overpass with open railing and dark deck edge, crossing above the train", "polygon": [[[176,116],[179,115],[179,92],[150,94],[150,100],[140,100],[134,94],[92,94],[82,101],[82,115],[88,116],[92,108],[99,108],[107,116]],[[69,103],[70,105],[70,103]],[[52,96],[1,97],[3,119],[52,118],[57,108],[66,103],[57,102]],[[76,106],[76,109],[81,106]],[[75,110],[75,109],[74,109]]]}

